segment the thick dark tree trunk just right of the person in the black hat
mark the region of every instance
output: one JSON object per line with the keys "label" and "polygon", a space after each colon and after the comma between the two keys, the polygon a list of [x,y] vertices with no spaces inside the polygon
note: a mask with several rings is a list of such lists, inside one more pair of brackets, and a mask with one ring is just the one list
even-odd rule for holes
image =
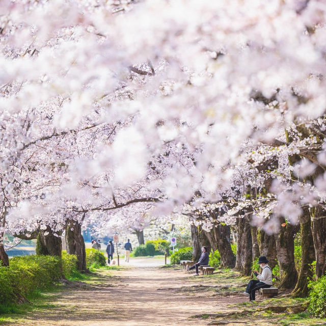
{"label": "thick dark tree trunk just right of the person in the black hat", "polygon": [[[285,223],[283,217],[279,218],[280,225]],[[294,264],[294,236],[299,225],[294,226],[287,223],[281,226],[279,234],[276,235],[277,258],[280,266],[280,278],[282,289],[293,289],[297,282],[297,271]]]}

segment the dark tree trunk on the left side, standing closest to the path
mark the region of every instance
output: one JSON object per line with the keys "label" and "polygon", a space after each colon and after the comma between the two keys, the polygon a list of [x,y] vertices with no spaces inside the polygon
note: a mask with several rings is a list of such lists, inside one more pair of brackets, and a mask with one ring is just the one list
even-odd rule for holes
{"label": "dark tree trunk on the left side, standing closest to the path", "polygon": [[77,256],[77,269],[82,273],[87,271],[86,268],[86,250],[85,242],[82,236],[82,224],[70,221],[66,227],[66,245],[67,253]]}

